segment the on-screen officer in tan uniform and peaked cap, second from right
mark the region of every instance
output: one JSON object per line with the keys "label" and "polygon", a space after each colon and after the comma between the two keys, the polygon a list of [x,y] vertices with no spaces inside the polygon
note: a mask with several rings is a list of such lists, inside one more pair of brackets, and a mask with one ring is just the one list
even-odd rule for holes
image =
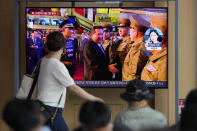
{"label": "on-screen officer in tan uniform and peaked cap, second from right", "polygon": [[144,33],[150,26],[150,23],[137,15],[131,16],[130,21],[130,38],[134,43],[124,60],[122,70],[123,81],[140,78],[141,72],[148,61],[148,55],[144,50]]}

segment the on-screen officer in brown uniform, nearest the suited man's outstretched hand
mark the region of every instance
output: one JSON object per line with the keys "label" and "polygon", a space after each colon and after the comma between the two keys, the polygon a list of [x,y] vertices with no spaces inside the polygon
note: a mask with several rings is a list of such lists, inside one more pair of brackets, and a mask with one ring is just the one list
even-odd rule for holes
{"label": "on-screen officer in brown uniform, nearest the suited man's outstretched hand", "polygon": [[115,53],[115,60],[113,63],[117,63],[117,69],[119,73],[116,74],[116,80],[122,80],[122,66],[124,64],[125,57],[129,52],[132,41],[129,37],[129,30],[130,30],[130,20],[126,18],[122,18],[118,20],[119,24],[119,34],[122,39],[119,39],[115,42],[116,45],[116,53]]}

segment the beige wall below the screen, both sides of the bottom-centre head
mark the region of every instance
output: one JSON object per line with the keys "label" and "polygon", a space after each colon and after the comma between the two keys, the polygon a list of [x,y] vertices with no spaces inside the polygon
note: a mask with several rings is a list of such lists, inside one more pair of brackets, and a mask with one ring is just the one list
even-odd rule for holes
{"label": "beige wall below the screen, both sides of the bottom-centre head", "polygon": [[[97,89],[86,89],[86,91],[96,96],[99,96],[105,100],[105,102],[111,108],[112,119],[114,119],[114,117],[120,111],[127,109],[127,103],[120,99],[120,93],[124,92],[124,89],[97,88]],[[70,129],[73,129],[74,127],[77,127],[79,125],[78,111],[79,111],[79,107],[83,102],[84,102],[83,100],[71,94],[68,94],[67,96],[66,105],[65,105],[66,107],[64,108],[63,116]]]}

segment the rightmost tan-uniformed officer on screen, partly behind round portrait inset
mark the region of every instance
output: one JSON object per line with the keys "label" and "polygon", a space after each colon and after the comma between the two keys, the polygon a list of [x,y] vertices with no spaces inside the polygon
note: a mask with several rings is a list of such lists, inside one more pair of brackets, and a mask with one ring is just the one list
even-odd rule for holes
{"label": "rightmost tan-uniformed officer on screen, partly behind round portrait inset", "polygon": [[144,67],[141,79],[144,81],[167,81],[167,20],[163,16],[152,16],[150,27],[163,32],[162,49],[149,50],[152,55]]}

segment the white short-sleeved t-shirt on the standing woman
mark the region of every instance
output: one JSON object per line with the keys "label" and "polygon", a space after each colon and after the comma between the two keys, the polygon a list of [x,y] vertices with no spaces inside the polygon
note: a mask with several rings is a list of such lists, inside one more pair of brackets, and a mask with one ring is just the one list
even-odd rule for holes
{"label": "white short-sleeved t-shirt on the standing woman", "polygon": [[74,80],[63,63],[55,58],[44,57],[42,59],[38,77],[38,100],[46,105],[57,107],[63,93],[58,107],[64,108],[66,87],[74,84]]}

